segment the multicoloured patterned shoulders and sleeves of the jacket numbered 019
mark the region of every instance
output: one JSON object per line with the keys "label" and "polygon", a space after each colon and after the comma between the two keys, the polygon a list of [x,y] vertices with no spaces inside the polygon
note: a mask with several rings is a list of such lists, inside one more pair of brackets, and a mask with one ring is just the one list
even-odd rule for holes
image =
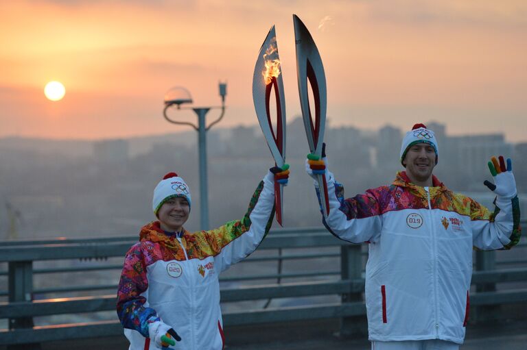
{"label": "multicoloured patterned shoulders and sleeves of the jacket numbered 019", "polygon": [[[329,196],[333,201],[330,202],[330,214],[336,213],[336,220],[328,225],[323,219],[323,223],[332,234],[349,242],[374,242],[378,239],[382,230],[382,218],[379,216],[382,214],[428,208],[428,195],[425,189],[411,184],[403,171],[397,173],[390,186],[369,189],[363,195],[348,199],[344,199],[344,188],[335,181],[331,173],[328,176],[328,185],[329,183],[331,183],[331,186],[328,186],[329,192],[334,193]],[[490,212],[473,199],[452,192],[435,176],[433,176],[433,185],[430,187],[432,208],[469,216],[473,227],[473,245],[477,249],[510,249],[519,242],[521,227],[517,197],[513,199],[498,197],[495,201],[497,205],[495,211]],[[318,188],[316,190],[318,192]],[[338,212],[333,211],[333,208],[338,209]],[[342,214],[345,216],[344,221],[340,217]],[[491,238],[489,235],[495,237]],[[496,237],[500,238],[501,245],[496,244]]]}

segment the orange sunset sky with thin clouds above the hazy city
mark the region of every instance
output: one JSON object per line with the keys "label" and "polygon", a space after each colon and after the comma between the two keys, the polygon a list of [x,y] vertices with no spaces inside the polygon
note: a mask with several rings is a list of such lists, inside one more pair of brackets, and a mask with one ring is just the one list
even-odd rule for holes
{"label": "orange sunset sky with thin clouds above the hazy city", "polygon": [[[524,0],[1,1],[0,137],[187,130],[164,120],[165,92],[185,86],[195,105],[219,105],[219,81],[228,84],[220,125],[255,125],[253,69],[272,25],[291,120],[300,113],[292,14],[322,56],[331,125],[433,120],[449,134],[527,142]],[[64,99],[46,99],[52,80]]]}

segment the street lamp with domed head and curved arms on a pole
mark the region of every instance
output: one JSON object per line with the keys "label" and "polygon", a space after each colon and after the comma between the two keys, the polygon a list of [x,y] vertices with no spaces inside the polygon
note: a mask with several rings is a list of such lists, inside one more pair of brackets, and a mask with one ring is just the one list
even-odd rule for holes
{"label": "street lamp with domed head and curved arms on a pole", "polygon": [[[192,103],[192,97],[190,92],[180,86],[171,88],[165,94],[165,109],[163,110],[163,116],[170,123],[181,124],[181,125],[190,125],[194,127],[198,132],[198,150],[200,153],[200,229],[209,229],[209,195],[207,190],[207,131],[213,127],[216,123],[220,122],[225,114],[225,97],[227,95],[227,84],[220,83],[220,97],[222,97],[222,105],[217,107],[200,107],[200,108],[181,108],[181,105],[185,103]],[[198,125],[189,123],[187,121],[174,121],[173,119],[167,116],[167,110],[170,107],[176,105],[178,110],[189,109],[194,110],[198,115]],[[209,126],[205,126],[205,115],[209,110],[213,108],[221,108],[222,113]]]}

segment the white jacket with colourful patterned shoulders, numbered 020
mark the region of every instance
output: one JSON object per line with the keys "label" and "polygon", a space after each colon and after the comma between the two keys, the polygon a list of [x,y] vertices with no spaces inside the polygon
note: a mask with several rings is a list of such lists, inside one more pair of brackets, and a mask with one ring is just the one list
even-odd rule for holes
{"label": "white jacket with colourful patterned shoulders, numbered 020", "polygon": [[222,349],[218,275],[255,251],[274,216],[272,173],[259,184],[244,218],[210,231],[167,236],[159,222],[141,229],[124,262],[117,314],[130,350],[157,349],[148,319],[160,317],[181,337],[171,349]]}

